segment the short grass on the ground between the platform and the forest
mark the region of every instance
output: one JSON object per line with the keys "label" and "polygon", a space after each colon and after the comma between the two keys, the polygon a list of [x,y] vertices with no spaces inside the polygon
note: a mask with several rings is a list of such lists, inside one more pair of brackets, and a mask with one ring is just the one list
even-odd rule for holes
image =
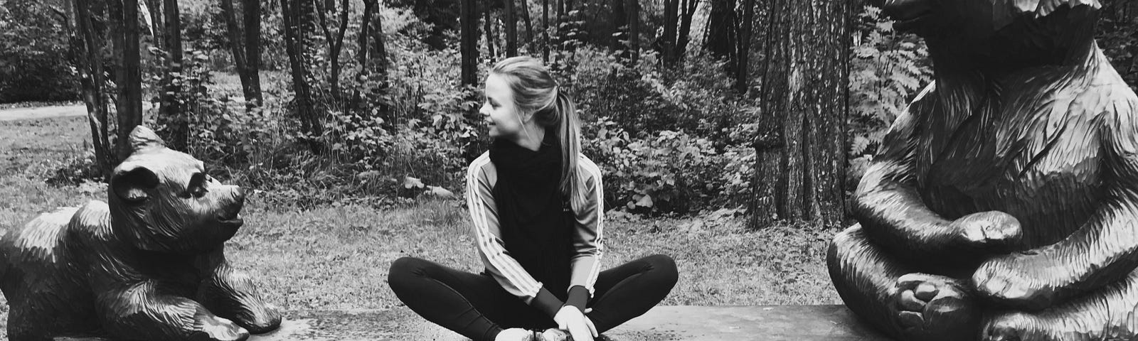
{"label": "short grass on the ground between the platform and the forest", "polygon": [[[83,117],[0,120],[0,226],[14,228],[55,207],[105,200],[98,183],[46,183],[90,145]],[[205,160],[207,164],[209,160]],[[396,309],[413,314],[387,285],[393,260],[414,256],[478,272],[469,218],[459,201],[419,201],[377,210],[328,205],[304,211],[270,207],[249,191],[246,224],[226,256],[290,310]],[[679,282],[662,305],[840,303],[825,266],[835,230],[743,227],[741,217],[641,218],[605,223],[603,267],[652,253],[675,258]],[[7,302],[0,319],[7,321]],[[411,317],[409,317],[411,318]],[[0,338],[6,340],[7,338]]]}

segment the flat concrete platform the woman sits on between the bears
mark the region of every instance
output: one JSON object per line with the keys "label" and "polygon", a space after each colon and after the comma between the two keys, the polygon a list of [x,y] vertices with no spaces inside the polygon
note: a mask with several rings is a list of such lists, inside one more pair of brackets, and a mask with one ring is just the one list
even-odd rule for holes
{"label": "flat concrete platform the woman sits on between the bears", "polygon": [[[604,333],[611,341],[889,340],[856,322],[844,306],[665,306]],[[467,340],[406,308],[290,311],[277,332],[250,341]],[[603,339],[602,339],[603,340]]]}

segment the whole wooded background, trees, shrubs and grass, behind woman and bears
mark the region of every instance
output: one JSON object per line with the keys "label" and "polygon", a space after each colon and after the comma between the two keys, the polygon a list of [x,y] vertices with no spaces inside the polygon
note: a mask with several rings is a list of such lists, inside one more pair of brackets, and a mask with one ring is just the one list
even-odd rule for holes
{"label": "whole wooded background, trees, shrubs and grass, behind woman and bears", "polygon": [[[146,124],[251,189],[226,250],[270,301],[407,321],[391,260],[479,266],[459,198],[488,145],[480,83],[528,55],[577,100],[604,172],[605,266],[671,255],[666,305],[838,303],[825,248],[931,81],[880,5],[0,0],[0,109],[86,108],[0,122],[0,226],[105,200],[117,141]],[[1098,42],[1138,85],[1138,1],[1103,2]]]}

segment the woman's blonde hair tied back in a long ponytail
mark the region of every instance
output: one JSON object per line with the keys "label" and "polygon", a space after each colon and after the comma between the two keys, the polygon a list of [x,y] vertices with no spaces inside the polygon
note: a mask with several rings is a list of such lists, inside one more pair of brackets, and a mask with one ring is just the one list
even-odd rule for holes
{"label": "woman's blonde hair tied back in a long ponytail", "polygon": [[490,68],[510,84],[513,105],[547,131],[555,132],[561,142],[561,194],[584,202],[584,182],[577,172],[580,153],[580,117],[577,105],[550,75],[537,58],[520,56],[498,61]]}

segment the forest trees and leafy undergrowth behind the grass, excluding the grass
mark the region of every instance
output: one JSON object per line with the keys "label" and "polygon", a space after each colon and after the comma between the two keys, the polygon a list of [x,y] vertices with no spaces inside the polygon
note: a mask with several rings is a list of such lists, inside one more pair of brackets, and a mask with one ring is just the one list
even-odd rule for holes
{"label": "forest trees and leafy undergrowth behind the grass, excluding the grass", "polygon": [[[0,103],[86,105],[90,152],[53,183],[106,178],[145,123],[278,207],[384,206],[462,191],[487,67],[531,55],[608,208],[831,226],[930,82],[923,42],[856,2],[2,0]],[[1106,1],[1098,36],[1130,84],[1136,8]]]}

